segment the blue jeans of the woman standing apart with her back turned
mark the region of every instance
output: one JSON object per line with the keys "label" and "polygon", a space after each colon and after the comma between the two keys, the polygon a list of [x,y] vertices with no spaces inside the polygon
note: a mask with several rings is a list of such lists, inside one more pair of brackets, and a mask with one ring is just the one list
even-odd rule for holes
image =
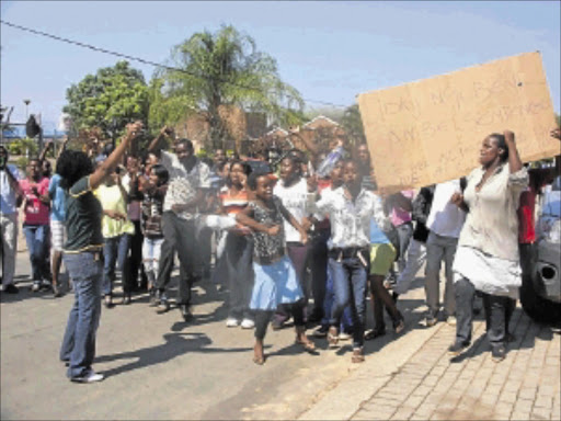
{"label": "blue jeans of the woman standing apart with her back turned", "polygon": [[70,363],[70,378],[85,375],[95,356],[95,332],[101,316],[102,263],[100,254],[65,253],[65,265],[75,286],[75,304],[68,316],[60,360]]}

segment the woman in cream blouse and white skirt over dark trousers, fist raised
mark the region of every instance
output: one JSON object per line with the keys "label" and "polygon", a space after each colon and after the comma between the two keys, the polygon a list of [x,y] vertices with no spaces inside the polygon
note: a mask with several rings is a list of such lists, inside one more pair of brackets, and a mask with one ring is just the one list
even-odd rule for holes
{"label": "woman in cream blouse and white skirt over dark trousers, fist raised", "polygon": [[508,320],[522,285],[516,209],[528,173],[510,130],[485,137],[479,161],[481,167],[469,174],[463,195],[456,193],[451,198],[468,216],[453,266],[457,325],[448,351],[458,355],[471,343],[473,297],[480,291],[492,357],[499,362],[506,356]]}

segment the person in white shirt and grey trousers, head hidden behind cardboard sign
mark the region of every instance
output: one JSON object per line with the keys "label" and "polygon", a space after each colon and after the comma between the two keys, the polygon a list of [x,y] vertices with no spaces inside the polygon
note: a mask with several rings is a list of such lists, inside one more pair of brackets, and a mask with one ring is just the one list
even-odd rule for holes
{"label": "person in white shirt and grey trousers, head hidden behind cardboard sign", "polygon": [[444,289],[444,318],[454,323],[456,301],[454,298],[454,275],[451,265],[456,255],[456,247],[461,227],[466,220],[466,213],[450,203],[454,193],[461,190],[460,181],[453,180],[436,185],[433,205],[426,221],[431,230],[426,240],[425,294],[428,315],[426,326],[437,322],[440,297],[440,264],[444,260],[446,271],[446,285]]}

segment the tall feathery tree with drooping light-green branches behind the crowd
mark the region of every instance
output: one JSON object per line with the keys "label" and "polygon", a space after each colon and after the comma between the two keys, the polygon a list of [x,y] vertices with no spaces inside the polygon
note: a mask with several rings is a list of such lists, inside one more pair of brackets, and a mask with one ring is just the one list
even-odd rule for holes
{"label": "tall feathery tree with drooping light-green branches behind the crowd", "polygon": [[298,91],[280,80],[276,60],[257,50],[253,38],[233,26],[222,26],[216,33],[195,33],[172,49],[169,61],[183,71],[163,68],[156,77],[163,81],[161,102],[174,101],[178,107],[169,107],[174,115],[154,111],[154,120],[161,113],[161,121],[173,124],[178,112],[186,115],[193,106],[205,111],[214,146],[229,139],[219,113],[224,105],[264,112],[276,124],[299,123],[304,101]]}

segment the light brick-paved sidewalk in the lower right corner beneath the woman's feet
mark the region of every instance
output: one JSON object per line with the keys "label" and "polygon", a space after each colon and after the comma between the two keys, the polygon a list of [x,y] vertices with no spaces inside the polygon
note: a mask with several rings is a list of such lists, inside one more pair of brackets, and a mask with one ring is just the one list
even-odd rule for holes
{"label": "light brick-paved sidewalk in the lower right corner beneath the woman's feet", "polygon": [[438,325],[393,376],[365,400],[353,420],[560,420],[559,334],[518,308],[516,340],[505,361],[491,360],[484,321],[472,346],[450,359],[455,327]]}

